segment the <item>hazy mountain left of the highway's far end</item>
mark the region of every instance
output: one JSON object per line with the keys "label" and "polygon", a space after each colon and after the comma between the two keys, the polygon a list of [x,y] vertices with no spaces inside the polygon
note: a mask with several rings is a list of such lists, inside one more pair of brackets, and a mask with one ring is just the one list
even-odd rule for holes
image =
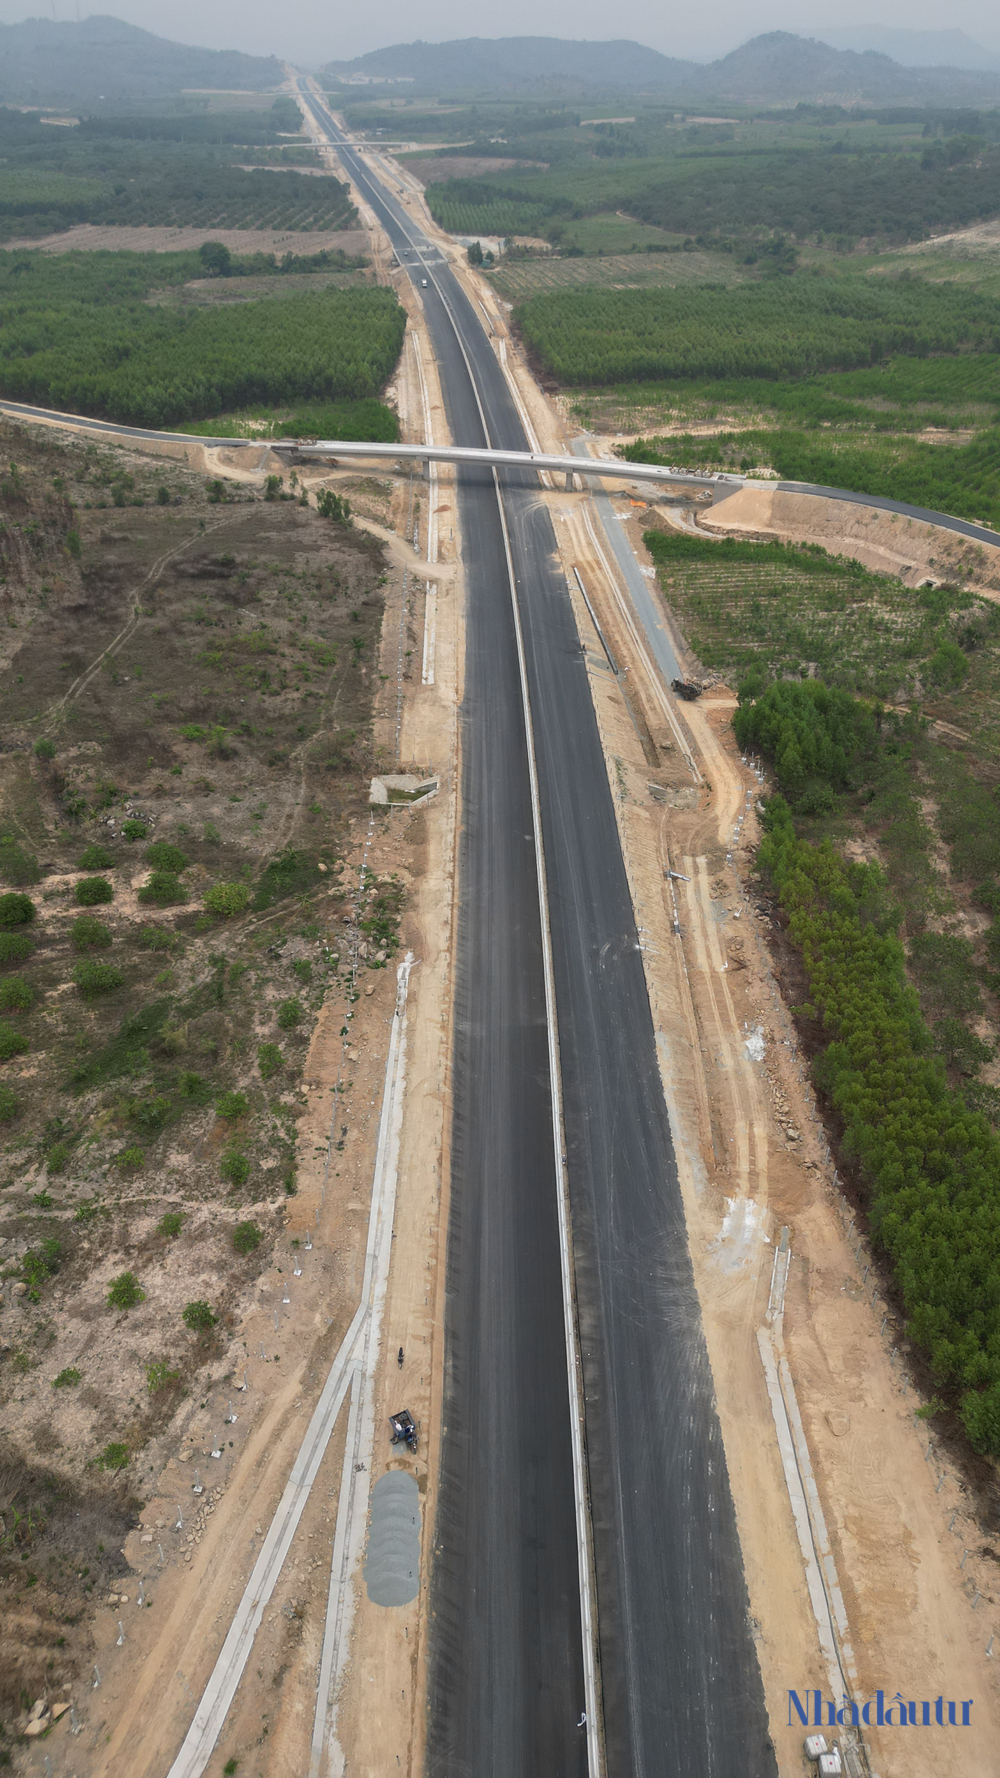
{"label": "hazy mountain left of the highway's far end", "polygon": [[283,80],[274,57],[192,50],[119,18],[0,25],[0,103],[121,110],[181,87],[262,92]]}

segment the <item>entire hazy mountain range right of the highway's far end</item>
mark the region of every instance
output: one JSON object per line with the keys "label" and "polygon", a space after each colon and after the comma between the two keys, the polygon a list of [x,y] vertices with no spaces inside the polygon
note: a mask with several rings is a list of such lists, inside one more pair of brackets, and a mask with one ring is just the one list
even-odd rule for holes
{"label": "entire hazy mountain range right of the highway's far end", "polygon": [[[954,39],[961,32],[931,36]],[[331,84],[356,84],[361,91],[368,84],[404,82],[415,94],[518,92],[530,98],[630,91],[658,92],[683,105],[1000,105],[1000,75],[986,69],[902,68],[888,55],[836,50],[786,30],[753,37],[708,66],[680,62],[626,39],[464,37],[397,43],[352,62],[329,62],[322,75]]]}

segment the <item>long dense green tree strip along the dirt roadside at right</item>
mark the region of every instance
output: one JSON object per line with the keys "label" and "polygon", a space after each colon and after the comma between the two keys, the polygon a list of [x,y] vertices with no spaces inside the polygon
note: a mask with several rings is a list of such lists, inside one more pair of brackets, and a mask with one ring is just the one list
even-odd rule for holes
{"label": "long dense green tree strip along the dirt roadside at right", "polygon": [[778,889],[824,1033],[817,1085],[868,1193],[911,1339],[1000,1456],[1000,1140],[932,1053],[881,869],[795,837],[770,800],[760,866]]}

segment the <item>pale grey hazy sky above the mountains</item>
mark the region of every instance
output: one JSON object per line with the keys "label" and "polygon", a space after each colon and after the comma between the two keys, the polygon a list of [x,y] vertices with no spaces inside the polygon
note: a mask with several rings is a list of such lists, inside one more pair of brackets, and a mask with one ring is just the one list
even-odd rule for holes
{"label": "pale grey hazy sky above the mountains", "polygon": [[[0,0],[0,20],[12,23],[25,16],[52,16],[59,20],[85,16],[94,7],[77,0],[41,0],[30,9],[11,0]],[[201,43],[212,50],[249,50],[254,55],[281,55],[302,66],[319,68],[327,60],[343,60],[377,50],[388,43],[411,43],[423,37],[440,43],[447,37],[633,37],[664,55],[681,55],[708,62],[724,55],[738,43],[762,30],[794,30],[799,36],[822,36],[824,25],[902,25],[909,30],[961,28],[988,48],[1000,46],[1000,21],[993,0],[762,0],[747,28],[747,9],[738,0],[715,0],[712,7],[667,9],[655,0],[619,0],[614,7],[614,27],[609,28],[609,7],[600,0],[577,0],[573,9],[559,0],[507,0],[502,11],[482,7],[472,12],[464,0],[429,0],[415,9],[402,0],[383,0],[381,5],[331,7],[324,0],[297,0],[295,5],[274,5],[269,0],[110,0],[100,11],[155,30],[160,37],[178,43]]]}

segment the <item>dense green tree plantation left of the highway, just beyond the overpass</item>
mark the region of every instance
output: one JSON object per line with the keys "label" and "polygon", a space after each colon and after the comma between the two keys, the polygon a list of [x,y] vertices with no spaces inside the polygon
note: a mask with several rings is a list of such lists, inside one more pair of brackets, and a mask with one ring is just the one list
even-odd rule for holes
{"label": "dense green tree plantation left of the highway, just beyond the overpass", "polygon": [[0,254],[0,393],[141,427],[256,402],[375,396],[402,348],[391,290],[176,309],[148,295],[198,254]]}

